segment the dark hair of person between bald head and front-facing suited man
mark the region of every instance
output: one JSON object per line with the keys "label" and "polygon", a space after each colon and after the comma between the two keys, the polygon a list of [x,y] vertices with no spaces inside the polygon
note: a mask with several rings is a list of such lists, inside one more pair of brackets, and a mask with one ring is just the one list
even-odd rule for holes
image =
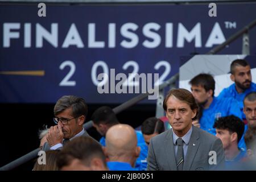
{"label": "dark hair of person between bald head and front-facing suited man", "polygon": [[145,135],[151,135],[154,133],[163,133],[164,132],[164,123],[162,120],[151,117],[147,118],[141,125],[141,132]]}

